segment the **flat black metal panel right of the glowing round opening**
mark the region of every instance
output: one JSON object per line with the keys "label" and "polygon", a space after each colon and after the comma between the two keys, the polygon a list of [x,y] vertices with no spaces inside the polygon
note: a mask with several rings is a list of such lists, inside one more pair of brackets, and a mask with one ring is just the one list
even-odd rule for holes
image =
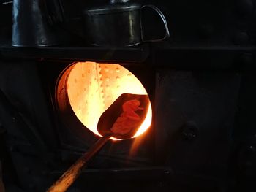
{"label": "flat black metal panel right of the glowing round opening", "polygon": [[240,79],[230,72],[159,70],[155,100],[159,164],[225,180]]}

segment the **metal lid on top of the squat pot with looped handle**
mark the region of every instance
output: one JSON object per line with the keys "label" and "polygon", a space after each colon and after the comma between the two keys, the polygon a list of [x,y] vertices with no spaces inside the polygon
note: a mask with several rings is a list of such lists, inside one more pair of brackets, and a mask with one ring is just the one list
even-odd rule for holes
{"label": "metal lid on top of the squat pot with looped handle", "polygon": [[89,7],[83,11],[85,15],[102,15],[115,12],[128,12],[140,9],[139,4],[135,3],[115,3],[101,7]]}

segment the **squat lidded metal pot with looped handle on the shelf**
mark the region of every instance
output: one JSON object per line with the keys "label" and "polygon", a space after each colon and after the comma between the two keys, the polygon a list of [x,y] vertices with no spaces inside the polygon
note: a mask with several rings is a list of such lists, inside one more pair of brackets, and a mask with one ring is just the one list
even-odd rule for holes
{"label": "squat lidded metal pot with looped handle on the shelf", "polygon": [[[141,10],[153,9],[165,25],[165,37],[146,40],[143,38]],[[102,47],[129,47],[142,42],[160,42],[167,39],[169,29],[165,16],[154,5],[143,5],[127,0],[112,0],[109,5],[84,10],[83,21],[86,37],[91,45]]]}

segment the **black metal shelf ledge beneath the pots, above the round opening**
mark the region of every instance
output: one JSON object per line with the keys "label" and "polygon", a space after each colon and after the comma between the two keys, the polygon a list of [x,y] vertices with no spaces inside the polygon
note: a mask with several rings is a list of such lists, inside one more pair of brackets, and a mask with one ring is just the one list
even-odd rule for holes
{"label": "black metal shelf ledge beneath the pots, above the round opening", "polygon": [[68,61],[121,61],[143,62],[148,58],[148,46],[131,48],[106,47],[0,47],[6,59],[68,60]]}

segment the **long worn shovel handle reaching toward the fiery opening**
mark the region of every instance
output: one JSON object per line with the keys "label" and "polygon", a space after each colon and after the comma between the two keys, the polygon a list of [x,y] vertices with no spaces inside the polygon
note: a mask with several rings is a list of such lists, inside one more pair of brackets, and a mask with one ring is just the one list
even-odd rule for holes
{"label": "long worn shovel handle reaching toward the fiery opening", "polygon": [[70,185],[75,182],[83,168],[87,165],[88,161],[105,145],[106,142],[112,137],[107,135],[99,139],[86,153],[75,162],[59,180],[54,183],[47,192],[64,192],[67,191]]}

